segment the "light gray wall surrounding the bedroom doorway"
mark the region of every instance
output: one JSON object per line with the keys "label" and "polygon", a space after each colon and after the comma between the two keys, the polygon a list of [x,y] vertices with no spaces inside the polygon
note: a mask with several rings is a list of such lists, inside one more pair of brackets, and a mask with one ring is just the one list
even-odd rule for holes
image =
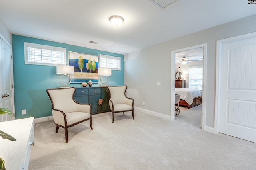
{"label": "light gray wall surrounding the bedroom doorway", "polygon": [[[189,28],[188,28],[189,29]],[[216,41],[256,31],[256,15],[129,53],[124,60],[124,84],[134,106],[170,116],[171,51],[207,43],[206,126],[214,127]],[[161,86],[156,82],[160,81]],[[142,101],[146,102],[142,106]]]}

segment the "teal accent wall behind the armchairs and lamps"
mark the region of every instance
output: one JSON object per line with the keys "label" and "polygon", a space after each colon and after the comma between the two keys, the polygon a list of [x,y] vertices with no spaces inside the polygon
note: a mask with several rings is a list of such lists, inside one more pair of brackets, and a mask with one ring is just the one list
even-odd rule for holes
{"label": "teal accent wall behind the armchairs and lamps", "polygon": [[[121,57],[121,71],[112,70],[112,75],[108,76],[108,85],[124,85],[124,55],[43,39],[12,35],[16,119],[52,116],[51,103],[46,89],[63,86],[60,84],[60,74],[56,74],[56,66],[25,64],[24,42],[66,48],[66,63],[68,63],[68,51],[98,55],[99,57],[100,54]],[[93,83],[92,87],[100,85],[101,83]],[[82,87],[82,84],[71,83],[69,86]],[[89,87],[87,86],[86,88]],[[26,115],[22,115],[22,110],[26,110]]]}

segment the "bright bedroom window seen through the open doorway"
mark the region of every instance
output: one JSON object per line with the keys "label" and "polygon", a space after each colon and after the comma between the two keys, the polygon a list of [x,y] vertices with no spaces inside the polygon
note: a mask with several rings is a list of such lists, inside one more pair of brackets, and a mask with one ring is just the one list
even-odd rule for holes
{"label": "bright bedroom window seen through the open doorway", "polygon": [[189,67],[188,88],[203,90],[203,67]]}

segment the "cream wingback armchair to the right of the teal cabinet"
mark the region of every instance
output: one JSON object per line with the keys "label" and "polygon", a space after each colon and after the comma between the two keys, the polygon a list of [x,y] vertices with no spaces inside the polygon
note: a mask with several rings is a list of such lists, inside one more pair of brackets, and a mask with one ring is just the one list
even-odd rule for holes
{"label": "cream wingback armchair to the right of the teal cabinet", "polygon": [[132,111],[132,118],[134,119],[134,100],[126,96],[127,86],[108,86],[108,90],[110,92],[109,107],[112,111],[112,123],[114,123],[114,113]]}

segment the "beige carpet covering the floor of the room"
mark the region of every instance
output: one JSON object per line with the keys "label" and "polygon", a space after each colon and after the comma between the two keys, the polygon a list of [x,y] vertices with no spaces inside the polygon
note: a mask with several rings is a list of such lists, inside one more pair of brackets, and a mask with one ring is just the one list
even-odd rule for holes
{"label": "beige carpet covering the floor of the room", "polygon": [[201,106],[180,107],[175,121],[142,112],[93,115],[55,134],[37,123],[30,170],[256,170],[256,143],[201,130]]}

